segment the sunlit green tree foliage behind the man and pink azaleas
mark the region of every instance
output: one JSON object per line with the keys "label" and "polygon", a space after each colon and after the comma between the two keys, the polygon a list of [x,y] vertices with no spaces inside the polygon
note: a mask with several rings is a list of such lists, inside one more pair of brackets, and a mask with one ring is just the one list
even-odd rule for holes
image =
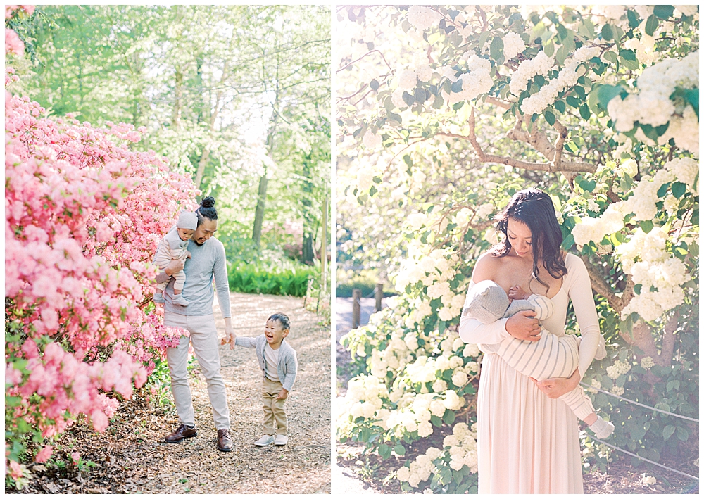
{"label": "sunlit green tree foliage behind the man and pink azaleas", "polygon": [[41,6],[17,30],[31,61],[23,91],[56,115],[146,127],[139,147],[216,197],[232,255],[258,254],[250,238],[263,175],[262,249],[300,257],[308,234],[319,250],[327,7]]}

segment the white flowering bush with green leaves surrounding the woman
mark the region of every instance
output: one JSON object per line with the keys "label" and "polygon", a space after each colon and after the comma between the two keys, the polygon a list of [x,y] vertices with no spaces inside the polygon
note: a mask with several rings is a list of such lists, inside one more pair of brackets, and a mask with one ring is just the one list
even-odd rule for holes
{"label": "white flowering bush with green leaves surrounding the woman", "polygon": [[[613,442],[696,453],[696,425],[598,390],[698,413],[698,7],[344,7],[338,22],[338,262],[399,293],[345,338],[389,396],[370,417],[346,400],[339,438],[378,421],[367,443],[408,458],[404,490],[444,490],[441,438],[475,417],[479,351],[456,334],[472,265],[492,217],[539,187],[589,270],[609,355],[584,382]],[[584,445],[595,467],[617,458]]]}

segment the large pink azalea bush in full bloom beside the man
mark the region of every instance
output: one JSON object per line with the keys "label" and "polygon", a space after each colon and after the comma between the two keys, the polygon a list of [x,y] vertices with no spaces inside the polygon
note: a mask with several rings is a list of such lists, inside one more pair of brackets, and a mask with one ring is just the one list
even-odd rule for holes
{"label": "large pink azalea bush in full bloom beside the man", "polygon": [[[7,68],[6,87],[16,79]],[[133,151],[143,130],[132,125],[45,114],[6,90],[6,470],[15,484],[30,436],[41,442],[78,415],[104,431],[115,394],[130,398],[187,334],[164,327],[151,305],[151,259],[177,213],[195,208],[191,179],[153,151]]]}

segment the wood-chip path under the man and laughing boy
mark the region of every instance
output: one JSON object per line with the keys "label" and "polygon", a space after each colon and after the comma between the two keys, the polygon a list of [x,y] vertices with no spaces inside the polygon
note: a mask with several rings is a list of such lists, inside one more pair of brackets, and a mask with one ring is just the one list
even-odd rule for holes
{"label": "wood-chip path under the man and laughing boy", "polygon": [[[82,424],[60,444],[96,463],[79,473],[68,463],[34,465],[26,493],[330,493],[330,333],[318,325],[301,298],[232,293],[233,326],[239,336],[256,336],[273,312],[291,317],[287,341],[296,350],[298,376],[286,410],[289,443],[253,446],[262,434],[261,374],[251,348],[220,347],[222,376],[230,406],[234,450],[215,448],[217,433],[201,374],[191,376],[198,436],[168,444],[163,436],[177,426],[172,408],[122,403],[105,434]],[[225,322],[215,305],[219,336]],[[240,329],[244,328],[244,329]],[[170,396],[170,394],[169,394]],[[68,455],[68,454],[67,454]]]}

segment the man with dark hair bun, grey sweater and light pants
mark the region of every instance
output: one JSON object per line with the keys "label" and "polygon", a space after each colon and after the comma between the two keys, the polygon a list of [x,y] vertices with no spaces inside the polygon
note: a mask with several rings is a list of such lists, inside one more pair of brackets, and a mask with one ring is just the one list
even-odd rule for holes
{"label": "man with dark hair bun, grey sweater and light pants", "polygon": [[[218,450],[230,452],[230,412],[227,409],[225,382],[220,375],[220,354],[218,353],[218,331],[213,317],[213,279],[218,293],[218,303],[225,318],[225,334],[234,344],[232,314],[230,313],[230,285],[227,282],[225,248],[213,237],[218,229],[218,212],[215,199],[207,196],[196,210],[198,225],[191,237],[188,250],[191,257],[172,260],[164,272],[158,274],[156,282],[166,282],[179,270],[186,274],[186,284],[182,296],[188,301],[187,307],[175,305],[173,282],[164,290],[164,324],[170,327],[187,329],[190,338],[182,336],[177,348],[168,348],[166,357],[171,374],[171,391],[174,396],[179,427],[165,437],[168,443],[176,443],[198,434],[193,410],[191,389],[188,384],[188,346],[193,345],[194,353],[201,366],[201,372],[208,383],[208,396],[213,406],[213,419],[218,430]],[[175,229],[171,229],[175,230]]]}

